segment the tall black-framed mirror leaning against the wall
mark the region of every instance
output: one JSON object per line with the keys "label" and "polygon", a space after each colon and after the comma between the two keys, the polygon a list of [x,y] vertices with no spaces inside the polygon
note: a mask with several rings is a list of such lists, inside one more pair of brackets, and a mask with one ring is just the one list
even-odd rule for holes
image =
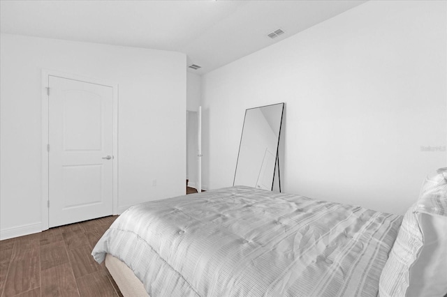
{"label": "tall black-framed mirror leaning against the wall", "polygon": [[279,103],[245,111],[233,185],[273,190],[283,110]]}

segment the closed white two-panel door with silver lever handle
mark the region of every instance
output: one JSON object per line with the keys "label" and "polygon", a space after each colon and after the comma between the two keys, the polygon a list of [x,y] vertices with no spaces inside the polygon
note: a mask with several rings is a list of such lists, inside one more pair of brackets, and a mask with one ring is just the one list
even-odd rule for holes
{"label": "closed white two-panel door with silver lever handle", "polygon": [[49,227],[112,215],[113,91],[50,76]]}

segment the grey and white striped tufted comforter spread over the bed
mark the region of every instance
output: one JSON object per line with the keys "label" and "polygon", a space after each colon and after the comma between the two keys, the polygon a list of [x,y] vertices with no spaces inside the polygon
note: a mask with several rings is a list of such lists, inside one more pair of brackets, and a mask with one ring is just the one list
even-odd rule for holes
{"label": "grey and white striped tufted comforter spread over the bed", "polygon": [[149,296],[377,296],[402,216],[238,186],[132,206],[92,254]]}

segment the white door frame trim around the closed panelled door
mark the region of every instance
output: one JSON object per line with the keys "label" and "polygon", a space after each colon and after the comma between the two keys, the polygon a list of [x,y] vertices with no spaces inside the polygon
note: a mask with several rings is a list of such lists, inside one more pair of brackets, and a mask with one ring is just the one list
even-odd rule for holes
{"label": "white door frame trim around the closed panelled door", "polygon": [[[41,100],[42,100],[42,192],[41,192],[41,229],[47,230],[49,226],[50,211],[48,209],[49,197],[49,152],[47,151],[47,144],[49,143],[49,113],[48,113],[48,95],[47,86],[49,83],[49,77],[61,77],[65,79],[78,80],[80,82],[87,82],[91,84],[99,84],[102,86],[110,86],[113,93],[113,159],[112,159],[112,176],[113,176],[113,188],[112,188],[112,214],[118,214],[118,84],[112,84],[105,82],[103,79],[97,79],[93,77],[85,77],[81,75],[75,75],[71,73],[62,73],[57,70],[42,69],[42,86],[41,86]],[[50,148],[51,149],[51,148]]]}

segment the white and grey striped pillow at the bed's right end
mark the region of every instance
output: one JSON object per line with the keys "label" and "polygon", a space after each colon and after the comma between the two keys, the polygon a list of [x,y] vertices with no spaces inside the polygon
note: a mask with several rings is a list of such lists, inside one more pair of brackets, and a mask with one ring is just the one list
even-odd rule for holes
{"label": "white and grey striped pillow at the bed's right end", "polygon": [[379,281],[381,297],[447,294],[447,168],[425,179]]}

